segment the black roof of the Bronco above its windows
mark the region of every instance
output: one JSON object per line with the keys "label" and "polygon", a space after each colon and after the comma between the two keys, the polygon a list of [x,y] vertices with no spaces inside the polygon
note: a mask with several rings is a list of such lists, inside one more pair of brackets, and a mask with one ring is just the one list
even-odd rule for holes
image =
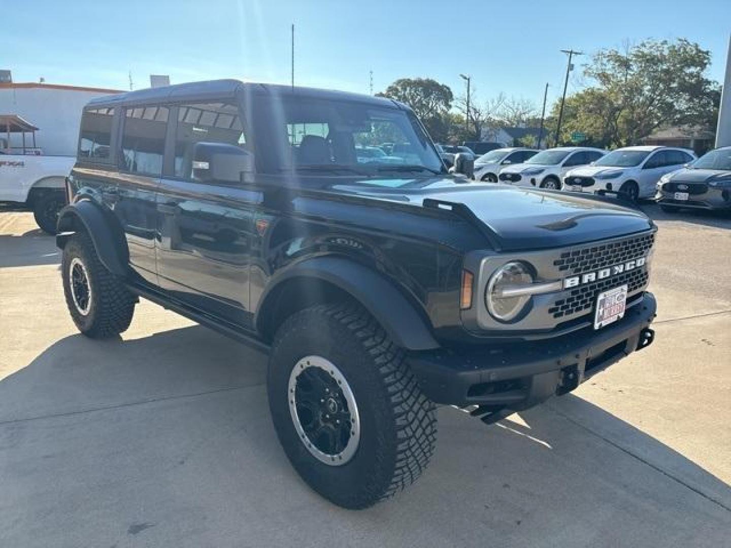
{"label": "black roof of the Bronco above its windows", "polygon": [[155,104],[178,101],[206,101],[212,99],[234,99],[241,92],[298,96],[312,99],[329,99],[332,101],[357,101],[370,103],[380,107],[395,107],[397,102],[371,95],[351,94],[345,91],[333,91],[317,88],[302,88],[299,86],[262,83],[243,83],[239,80],[208,80],[206,82],[192,82],[186,84],[165,85],[160,88],[129,91],[125,94],[107,95],[92,99],[88,107],[132,106],[136,104]]}

